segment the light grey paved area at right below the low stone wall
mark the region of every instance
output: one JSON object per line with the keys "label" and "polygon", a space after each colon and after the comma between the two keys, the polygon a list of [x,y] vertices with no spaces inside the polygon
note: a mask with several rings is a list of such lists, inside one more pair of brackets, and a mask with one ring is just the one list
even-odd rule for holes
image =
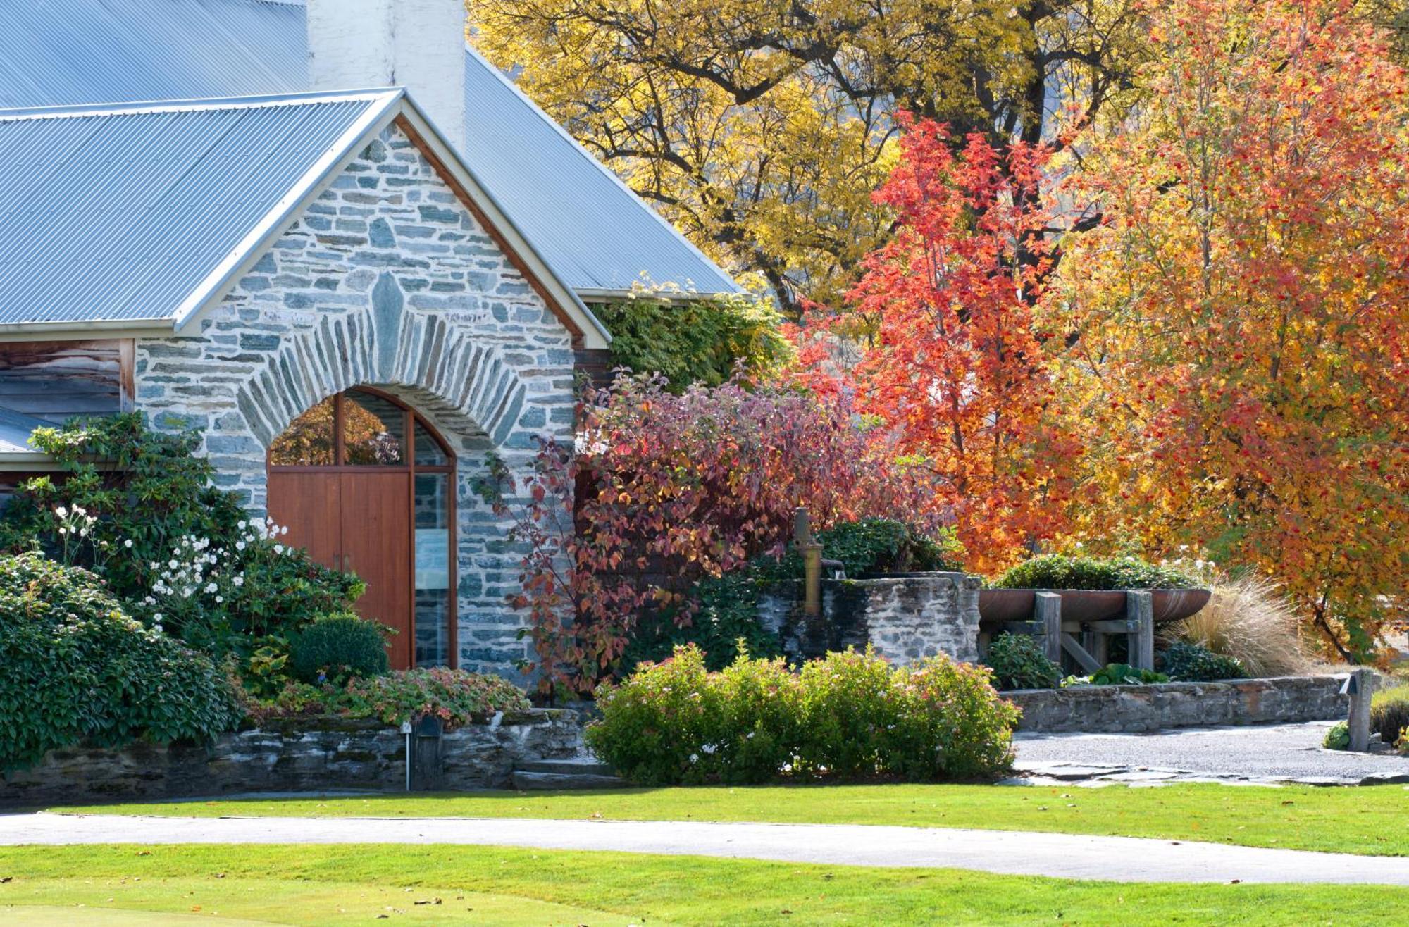
{"label": "light grey paved area at right below the low stone wall", "polygon": [[[1330,721],[1157,734],[1017,734],[1017,769],[1038,776],[1154,782],[1409,783],[1409,757],[1322,749]],[[1089,775],[1082,775],[1085,773]],[[1177,775],[1151,775],[1154,772]],[[1096,782],[1099,783],[1099,782]]]}

